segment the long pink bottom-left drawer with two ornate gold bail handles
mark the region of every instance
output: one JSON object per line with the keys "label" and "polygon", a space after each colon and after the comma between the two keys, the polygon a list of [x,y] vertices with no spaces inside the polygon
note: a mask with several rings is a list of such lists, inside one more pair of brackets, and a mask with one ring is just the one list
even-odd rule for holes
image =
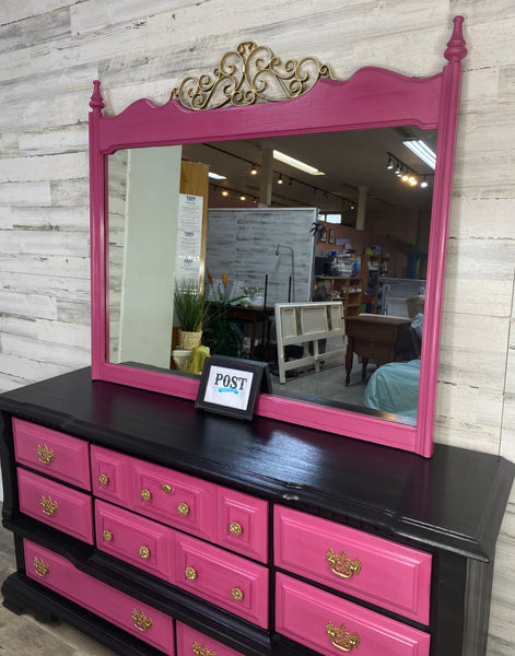
{"label": "long pink bottom-left drawer with two ornate gold bail handles", "polygon": [[174,621],[147,604],[77,570],[66,558],[24,541],[27,576],[128,633],[174,656]]}

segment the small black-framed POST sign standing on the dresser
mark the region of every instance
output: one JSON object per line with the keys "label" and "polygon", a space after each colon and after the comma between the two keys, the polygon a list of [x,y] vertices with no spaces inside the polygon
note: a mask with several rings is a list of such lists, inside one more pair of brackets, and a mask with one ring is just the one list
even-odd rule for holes
{"label": "small black-framed POST sign standing on the dresser", "polygon": [[196,408],[251,419],[259,391],[271,390],[266,362],[213,355],[203,363]]}

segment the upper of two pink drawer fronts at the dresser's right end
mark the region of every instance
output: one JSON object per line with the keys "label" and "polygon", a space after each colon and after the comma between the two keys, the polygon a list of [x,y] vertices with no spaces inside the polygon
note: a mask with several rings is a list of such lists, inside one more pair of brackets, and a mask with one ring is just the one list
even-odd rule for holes
{"label": "upper of two pink drawer fronts at the dresser's right end", "polygon": [[429,553],[290,508],[274,511],[278,567],[429,623]]}

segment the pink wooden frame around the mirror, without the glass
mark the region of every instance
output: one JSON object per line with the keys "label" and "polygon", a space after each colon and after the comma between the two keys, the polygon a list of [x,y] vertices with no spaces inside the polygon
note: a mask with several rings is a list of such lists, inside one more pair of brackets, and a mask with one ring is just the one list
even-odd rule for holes
{"label": "pink wooden frame around the mirror, without the glass", "polygon": [[176,101],[156,106],[140,99],[121,114],[104,116],[100,82],[94,82],[90,106],[92,377],[142,389],[196,399],[199,382],[107,360],[107,155],[119,149],[175,143],[248,139],[417,125],[437,129],[432,227],[428,257],[424,339],[420,372],[417,425],[406,425],[290,400],[259,397],[256,413],[330,433],[373,442],[430,457],[433,452],[434,411],[445,280],[447,226],[450,210],[461,59],[467,50],[463,16],[445,50],[448,63],[431,78],[414,79],[382,68],[363,68],[344,82],[319,80],[294,99],[195,112]]}

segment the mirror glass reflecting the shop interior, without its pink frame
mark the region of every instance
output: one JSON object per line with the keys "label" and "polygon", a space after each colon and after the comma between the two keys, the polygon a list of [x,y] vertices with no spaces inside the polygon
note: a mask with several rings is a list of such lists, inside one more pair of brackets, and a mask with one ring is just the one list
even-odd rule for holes
{"label": "mirror glass reflecting the shop interior, without its pink frame", "polygon": [[414,423],[434,173],[418,140],[436,152],[405,127],[109,155],[109,362],[176,374],[176,280],[195,280],[238,298],[223,354],[269,362],[273,395]]}

